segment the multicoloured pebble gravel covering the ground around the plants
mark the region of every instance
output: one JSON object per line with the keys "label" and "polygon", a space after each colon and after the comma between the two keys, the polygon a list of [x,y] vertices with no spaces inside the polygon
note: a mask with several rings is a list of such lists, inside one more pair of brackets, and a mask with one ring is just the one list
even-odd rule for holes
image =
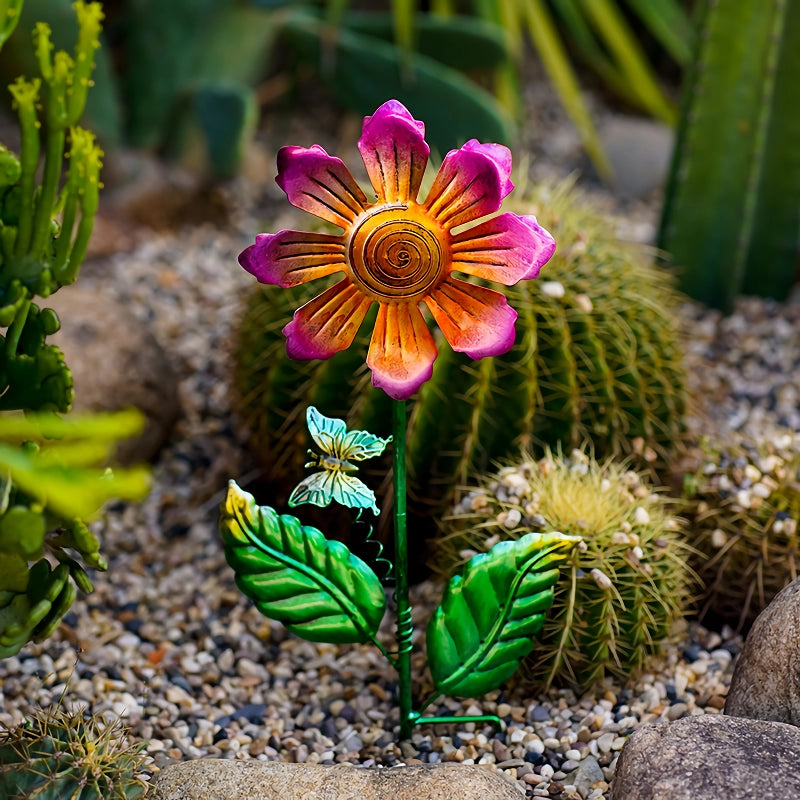
{"label": "multicoloured pebble gravel covering the ground around the plants", "polygon": [[[0,722],[13,725],[64,694],[123,717],[135,738],[149,740],[153,771],[201,756],[455,760],[495,765],[529,796],[599,798],[631,731],[720,713],[741,640],[689,625],[630,686],[445,701],[438,713],[498,714],[506,728],[421,727],[398,745],[395,675],[375,648],[300,641],[250,606],[224,562],[215,510],[228,477],[257,474],[234,434],[228,389],[229,333],[251,285],[235,257],[256,230],[249,219],[240,227],[240,235],[211,227],[154,235],[82,278],[125,298],[167,343],[184,413],[150,497],[112,507],[97,524],[110,570],[95,576],[94,594],[76,602],[50,641],[0,661]],[[750,420],[759,435],[797,427],[799,312],[753,300],[727,320],[686,309],[698,331],[688,354],[696,389],[713,401],[706,421],[747,430]],[[430,609],[435,587],[417,593]],[[415,674],[422,668],[417,655]],[[587,777],[599,781],[591,792],[571,788]]]}

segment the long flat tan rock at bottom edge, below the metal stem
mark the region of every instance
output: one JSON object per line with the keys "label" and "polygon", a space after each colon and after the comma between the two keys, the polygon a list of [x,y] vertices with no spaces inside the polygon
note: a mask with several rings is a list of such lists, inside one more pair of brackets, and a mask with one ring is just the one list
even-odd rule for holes
{"label": "long flat tan rock at bottom edge, below the metal stem", "polygon": [[148,800],[520,800],[516,784],[486,767],[426,764],[331,767],[200,759],[156,774]]}

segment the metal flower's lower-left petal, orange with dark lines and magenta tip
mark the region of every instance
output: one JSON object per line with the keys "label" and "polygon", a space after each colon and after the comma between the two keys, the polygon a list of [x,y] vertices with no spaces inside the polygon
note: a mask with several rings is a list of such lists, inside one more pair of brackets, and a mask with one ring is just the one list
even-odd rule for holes
{"label": "metal flower's lower-left petal, orange with dark lines and magenta tip", "polygon": [[347,278],[309,300],[283,329],[289,358],[330,358],[346,350],[371,304]]}

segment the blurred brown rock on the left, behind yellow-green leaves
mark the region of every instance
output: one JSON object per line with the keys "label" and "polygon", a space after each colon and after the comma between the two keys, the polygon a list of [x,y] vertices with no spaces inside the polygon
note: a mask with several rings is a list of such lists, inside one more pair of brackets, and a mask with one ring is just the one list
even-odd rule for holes
{"label": "blurred brown rock on the left, behind yellow-green leaves", "polygon": [[115,460],[147,461],[164,443],[178,416],[175,370],[147,327],[107,292],[68,286],[43,302],[61,320],[48,338],[64,352],[75,381],[76,412],[135,406],[147,417],[142,433],[121,441]]}

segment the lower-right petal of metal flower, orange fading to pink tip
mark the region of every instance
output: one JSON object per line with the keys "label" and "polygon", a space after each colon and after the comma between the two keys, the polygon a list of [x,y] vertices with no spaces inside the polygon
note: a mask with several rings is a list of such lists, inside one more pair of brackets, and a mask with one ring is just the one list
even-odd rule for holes
{"label": "lower-right petal of metal flower, orange fading to pink tip", "polygon": [[513,347],[517,312],[500,292],[450,277],[424,300],[453,350],[478,359]]}

